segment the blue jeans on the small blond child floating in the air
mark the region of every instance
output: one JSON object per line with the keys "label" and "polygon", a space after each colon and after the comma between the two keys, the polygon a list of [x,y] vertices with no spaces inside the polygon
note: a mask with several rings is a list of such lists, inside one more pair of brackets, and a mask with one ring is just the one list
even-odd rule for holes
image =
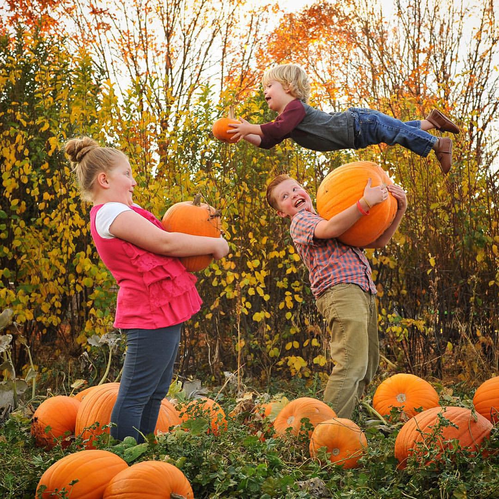
{"label": "blue jeans on the small blond child floating in the air", "polygon": [[426,158],[437,137],[421,130],[421,121],[400,121],[386,114],[360,107],[351,107],[356,149],[384,142],[390,146],[400,144],[413,153]]}

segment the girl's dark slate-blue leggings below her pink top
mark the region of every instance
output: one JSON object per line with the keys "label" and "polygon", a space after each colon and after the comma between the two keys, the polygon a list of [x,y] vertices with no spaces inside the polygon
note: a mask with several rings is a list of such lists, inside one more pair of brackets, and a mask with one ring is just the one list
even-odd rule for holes
{"label": "girl's dark slate-blue leggings below her pink top", "polygon": [[159,329],[122,329],[127,351],[111,428],[115,439],[131,436],[143,442],[153,433],[161,401],[170,388],[182,324]]}

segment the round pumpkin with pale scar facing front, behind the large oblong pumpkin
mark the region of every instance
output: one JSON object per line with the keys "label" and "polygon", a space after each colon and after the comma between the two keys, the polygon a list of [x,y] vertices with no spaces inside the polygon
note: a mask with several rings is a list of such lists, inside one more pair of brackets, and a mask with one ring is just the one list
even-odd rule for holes
{"label": "round pumpkin with pale scar facing front, behind the large oblong pumpkin", "polygon": [[374,393],[373,407],[381,416],[389,416],[393,407],[402,410],[403,421],[417,414],[416,409],[439,405],[439,396],[428,381],[414,374],[399,373],[380,383]]}

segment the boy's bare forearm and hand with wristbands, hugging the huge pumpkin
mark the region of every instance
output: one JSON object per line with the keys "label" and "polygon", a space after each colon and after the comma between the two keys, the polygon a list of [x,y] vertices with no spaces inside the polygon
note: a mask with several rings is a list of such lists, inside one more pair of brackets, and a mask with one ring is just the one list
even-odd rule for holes
{"label": "boy's bare forearm and hand with wristbands, hugging the huge pumpkin", "polygon": [[[371,183],[372,180],[369,179],[364,189],[364,199],[360,200],[360,205],[366,212],[369,210],[368,204],[370,206],[377,205],[388,197],[388,190],[386,187],[371,187]],[[350,227],[363,216],[364,215],[362,215],[357,208],[357,203],[355,203],[337,215],[334,215],[334,217],[331,217],[329,220],[321,220],[315,226],[314,237],[317,239],[337,238],[350,229]]]}

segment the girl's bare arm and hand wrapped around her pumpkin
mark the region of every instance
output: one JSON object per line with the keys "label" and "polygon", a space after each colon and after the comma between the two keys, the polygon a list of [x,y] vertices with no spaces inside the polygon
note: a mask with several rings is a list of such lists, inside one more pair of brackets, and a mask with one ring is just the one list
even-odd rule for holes
{"label": "girl's bare arm and hand wrapped around her pumpkin", "polygon": [[109,227],[109,232],[139,248],[167,256],[212,254],[219,259],[229,252],[229,245],[222,237],[163,231],[133,210],[120,213]]}

